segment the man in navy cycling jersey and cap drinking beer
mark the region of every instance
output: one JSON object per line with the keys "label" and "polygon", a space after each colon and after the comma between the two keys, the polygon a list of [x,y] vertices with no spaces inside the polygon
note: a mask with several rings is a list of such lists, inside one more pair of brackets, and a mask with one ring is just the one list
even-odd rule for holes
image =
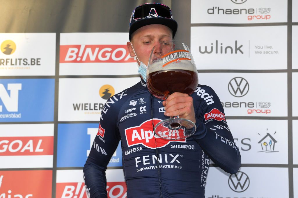
{"label": "man in navy cycling jersey and cap drinking beer", "polygon": [[[131,56],[146,67],[152,48],[172,40],[176,30],[167,6],[136,7],[127,43]],[[209,159],[229,173],[236,173],[241,164],[219,98],[210,87],[198,85],[191,96],[176,92],[162,102],[148,92],[143,77],[103,108],[99,132],[83,169],[87,193],[92,198],[107,197],[105,169],[121,140],[127,197],[204,198]],[[207,102],[207,97],[212,100]],[[192,120],[195,133],[178,141],[155,137],[153,125],[176,115]]]}

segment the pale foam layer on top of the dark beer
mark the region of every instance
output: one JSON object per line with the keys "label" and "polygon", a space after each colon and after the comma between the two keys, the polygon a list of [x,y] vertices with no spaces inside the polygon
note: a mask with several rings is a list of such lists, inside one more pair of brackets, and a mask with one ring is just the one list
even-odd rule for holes
{"label": "pale foam layer on top of the dark beer", "polygon": [[160,70],[189,70],[193,72],[197,72],[197,68],[195,65],[193,65],[192,62],[189,60],[180,60],[180,62],[171,62],[167,64],[166,66],[162,67],[162,59],[160,59],[158,62],[153,63],[150,65],[150,73],[160,71]]}

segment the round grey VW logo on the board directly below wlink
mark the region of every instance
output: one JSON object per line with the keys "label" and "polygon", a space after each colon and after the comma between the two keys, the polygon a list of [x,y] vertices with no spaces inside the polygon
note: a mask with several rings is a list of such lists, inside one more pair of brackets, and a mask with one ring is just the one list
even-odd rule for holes
{"label": "round grey VW logo on the board directly below wlink", "polygon": [[229,82],[228,89],[233,96],[242,97],[248,93],[249,84],[244,78],[235,77]]}

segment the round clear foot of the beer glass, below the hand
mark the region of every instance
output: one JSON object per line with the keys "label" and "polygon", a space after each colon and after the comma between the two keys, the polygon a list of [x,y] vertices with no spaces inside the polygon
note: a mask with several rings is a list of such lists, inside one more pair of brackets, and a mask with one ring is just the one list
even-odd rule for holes
{"label": "round clear foot of the beer glass, below the hand", "polygon": [[154,127],[156,135],[163,139],[184,139],[195,133],[196,126],[184,118],[169,118],[162,120]]}

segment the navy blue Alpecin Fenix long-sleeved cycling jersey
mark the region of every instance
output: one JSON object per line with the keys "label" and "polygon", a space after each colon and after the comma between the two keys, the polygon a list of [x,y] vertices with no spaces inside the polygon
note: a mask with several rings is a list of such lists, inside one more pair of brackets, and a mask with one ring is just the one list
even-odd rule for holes
{"label": "navy blue Alpecin Fenix long-sleeved cycling jersey", "polygon": [[112,96],[102,109],[97,136],[84,166],[90,197],[107,197],[105,169],[119,141],[127,197],[204,198],[210,159],[236,173],[240,153],[212,88],[198,85],[193,98],[195,133],[181,140],[155,136],[153,126],[164,116],[162,100],[141,81]]}

